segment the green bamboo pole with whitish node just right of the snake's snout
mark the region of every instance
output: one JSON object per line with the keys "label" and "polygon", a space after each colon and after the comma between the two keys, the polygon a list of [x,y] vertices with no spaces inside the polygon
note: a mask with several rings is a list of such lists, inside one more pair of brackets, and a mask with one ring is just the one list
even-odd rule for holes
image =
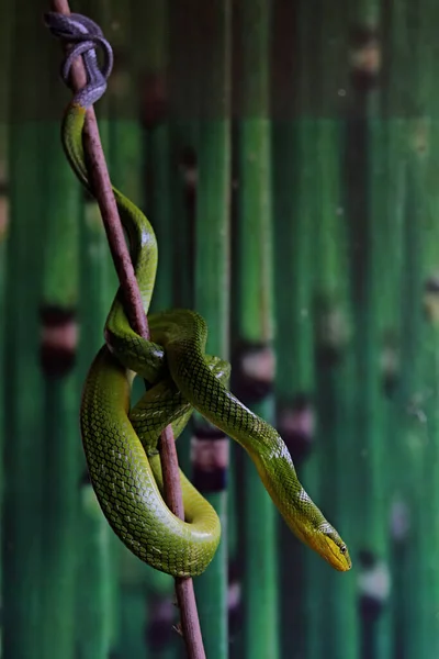
{"label": "green bamboo pole with whitish node just right of the snake's snout", "polygon": [[[350,231],[351,278],[356,323],[354,409],[358,427],[357,492],[363,524],[358,527],[361,570],[359,605],[362,657],[386,657],[390,651],[389,496],[386,478],[387,417],[382,388],[383,280],[389,269],[384,248],[386,223],[385,148],[381,116],[380,13],[374,0],[352,8],[350,40],[351,85],[346,169]],[[360,252],[361,246],[361,252]],[[383,269],[384,268],[384,269]],[[379,588],[370,589],[375,577]]]}

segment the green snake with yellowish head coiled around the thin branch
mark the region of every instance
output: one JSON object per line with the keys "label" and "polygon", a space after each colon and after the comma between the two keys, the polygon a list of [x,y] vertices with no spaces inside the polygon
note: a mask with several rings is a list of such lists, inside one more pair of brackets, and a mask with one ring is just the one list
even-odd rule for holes
{"label": "green snake with yellowish head coiled around the thin branch", "polygon": [[[93,41],[92,36],[89,31],[94,46],[102,45],[101,37]],[[74,172],[92,194],[82,130],[86,111],[103,93],[105,80],[97,74],[94,51],[81,44],[78,48],[85,55],[89,85],[68,104],[61,138]],[[155,233],[133,202],[115,188],[113,193],[147,314],[157,268]],[[211,562],[221,538],[218,516],[181,471],[184,521],[169,511],[157,449],[161,431],[172,424],[178,437],[195,409],[247,451],[295,535],[336,570],[349,570],[347,546],[303,489],[278,432],[227,389],[229,365],[205,355],[207,328],[202,316],[171,310],[151,314],[148,321],[150,340],[131,327],[119,290],[105,322],[105,345],[90,367],[81,400],[80,426],[91,483],[120,539],[143,561],[173,577],[198,576]],[[136,375],[149,389],[131,409]]]}

